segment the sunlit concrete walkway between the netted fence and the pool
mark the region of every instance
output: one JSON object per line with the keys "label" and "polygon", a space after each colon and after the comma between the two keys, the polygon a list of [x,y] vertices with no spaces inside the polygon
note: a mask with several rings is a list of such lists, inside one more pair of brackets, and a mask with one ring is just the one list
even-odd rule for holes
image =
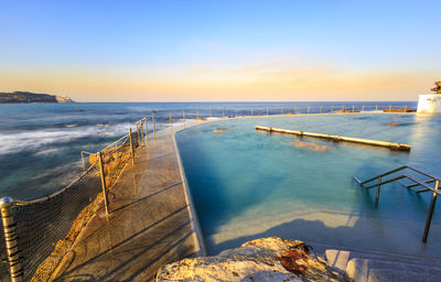
{"label": "sunlit concrete walkway between the netted fence and the pool", "polygon": [[63,258],[54,281],[152,281],[162,265],[201,251],[186,200],[185,181],[170,132],[136,151],[109,193]]}

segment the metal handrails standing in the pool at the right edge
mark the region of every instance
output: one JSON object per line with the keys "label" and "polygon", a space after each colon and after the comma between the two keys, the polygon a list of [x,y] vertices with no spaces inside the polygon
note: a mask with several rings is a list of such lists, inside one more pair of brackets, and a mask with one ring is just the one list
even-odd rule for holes
{"label": "metal handrails standing in the pool at the right edge", "polygon": [[[427,177],[426,181],[421,181],[419,178],[417,178],[413,175],[409,175],[409,174],[401,174],[399,176],[395,176],[392,178],[388,178],[388,180],[384,180],[385,176],[404,171],[404,170],[408,170],[408,171],[413,171],[416,172],[419,176],[424,176]],[[361,181],[357,177],[353,176],[354,181],[362,187],[365,189],[370,189],[370,188],[377,188],[377,196],[375,198],[375,205],[378,205],[378,198],[379,198],[379,191],[381,188],[381,185],[388,184],[388,183],[392,183],[392,182],[399,182],[401,185],[406,186],[409,189],[412,189],[417,186],[422,186],[422,188],[419,189],[412,189],[415,193],[423,193],[423,192],[432,192],[432,199],[430,202],[430,207],[429,207],[429,212],[428,212],[428,216],[426,219],[426,227],[424,227],[424,234],[422,236],[422,242],[427,242],[427,238],[429,235],[429,229],[430,229],[430,223],[432,221],[432,216],[433,216],[433,209],[434,209],[434,204],[437,202],[437,196],[440,195],[441,196],[441,192],[440,192],[440,177],[433,176],[427,172],[423,172],[421,170],[415,169],[412,166],[409,165],[402,165],[398,169],[381,173],[375,177],[372,177],[369,180],[366,181]],[[401,180],[409,180],[412,183],[411,184],[406,184],[404,182],[401,182]],[[376,181],[375,183],[373,183],[374,181]],[[434,183],[433,186],[430,186],[429,184]]]}

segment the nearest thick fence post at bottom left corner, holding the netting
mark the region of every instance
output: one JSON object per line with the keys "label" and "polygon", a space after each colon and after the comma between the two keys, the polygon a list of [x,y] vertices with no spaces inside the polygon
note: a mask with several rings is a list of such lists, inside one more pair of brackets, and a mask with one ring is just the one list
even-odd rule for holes
{"label": "nearest thick fence post at bottom left corner, holding the netting", "polygon": [[9,274],[12,282],[21,282],[23,281],[23,271],[20,263],[15,224],[11,213],[12,205],[13,200],[10,197],[3,197],[0,199],[1,221],[3,224],[3,236],[8,254]]}

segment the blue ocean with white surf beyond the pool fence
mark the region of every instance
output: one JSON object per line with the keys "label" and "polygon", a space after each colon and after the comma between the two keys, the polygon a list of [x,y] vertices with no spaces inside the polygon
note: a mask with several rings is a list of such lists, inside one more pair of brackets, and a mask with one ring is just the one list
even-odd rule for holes
{"label": "blue ocean with white surf beyond the pool fence", "polygon": [[[157,128],[197,116],[276,115],[294,107],[311,112],[319,105],[337,109],[362,105],[416,107],[415,102],[115,102],[0,105],[0,196],[33,199],[74,180],[82,170],[82,150],[96,152],[155,113]],[[302,108],[301,108],[302,107]],[[373,108],[372,108],[373,109]],[[326,109],[323,108],[323,111]],[[149,127],[152,128],[151,124]]]}

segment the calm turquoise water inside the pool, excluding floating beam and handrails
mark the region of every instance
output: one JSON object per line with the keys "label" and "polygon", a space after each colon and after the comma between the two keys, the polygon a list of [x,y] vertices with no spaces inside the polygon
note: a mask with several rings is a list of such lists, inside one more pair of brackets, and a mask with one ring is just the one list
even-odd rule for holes
{"label": "calm turquoise water inside the pool, excluding floating beam and handrails", "polygon": [[[269,134],[255,126],[408,143],[412,150]],[[364,180],[402,164],[440,176],[441,116],[225,120],[176,132],[176,142],[209,253],[281,236],[313,246],[441,257],[440,203],[429,241],[421,243],[429,193],[387,185],[375,207],[375,191],[352,181],[353,175]],[[312,150],[315,145],[321,150]]]}

